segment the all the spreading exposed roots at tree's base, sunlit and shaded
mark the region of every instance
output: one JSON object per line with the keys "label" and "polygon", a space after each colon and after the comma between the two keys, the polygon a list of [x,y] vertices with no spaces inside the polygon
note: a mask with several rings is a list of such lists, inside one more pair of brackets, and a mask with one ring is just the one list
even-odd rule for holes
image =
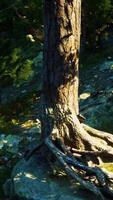
{"label": "all the spreading exposed roots at tree's base, sunlit and shaded", "polygon": [[[79,130],[80,141],[84,146],[82,150],[72,145],[67,146],[69,143],[65,145],[61,137],[54,138],[51,134],[29,152],[26,159],[36,151],[44,151],[46,148],[49,150],[48,161],[50,158],[57,159],[65,172],[85,189],[102,200],[113,198],[113,175],[98,167],[101,162],[111,162],[113,159],[113,136],[78,121],[76,126],[72,123],[71,125],[76,134]],[[45,156],[47,157],[47,153]]]}

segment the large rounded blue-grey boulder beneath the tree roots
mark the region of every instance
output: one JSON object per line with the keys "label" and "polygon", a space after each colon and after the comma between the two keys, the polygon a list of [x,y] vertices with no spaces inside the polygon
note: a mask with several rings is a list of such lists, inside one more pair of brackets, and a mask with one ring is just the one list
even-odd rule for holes
{"label": "large rounded blue-grey boulder beneath the tree roots", "polygon": [[24,200],[96,199],[87,191],[80,190],[66,174],[59,172],[53,175],[47,161],[38,156],[33,156],[29,161],[20,160],[13,169],[11,180],[4,187],[5,194],[7,188],[11,191],[11,199],[14,197]]}

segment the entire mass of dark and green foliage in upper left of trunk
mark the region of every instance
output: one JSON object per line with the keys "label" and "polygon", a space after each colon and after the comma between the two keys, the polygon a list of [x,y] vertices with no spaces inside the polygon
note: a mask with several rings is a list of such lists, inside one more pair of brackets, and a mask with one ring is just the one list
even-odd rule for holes
{"label": "entire mass of dark and green foliage in upper left of trunk", "polygon": [[0,1],[2,87],[20,85],[33,76],[32,60],[40,47],[38,30],[41,26],[42,0]]}

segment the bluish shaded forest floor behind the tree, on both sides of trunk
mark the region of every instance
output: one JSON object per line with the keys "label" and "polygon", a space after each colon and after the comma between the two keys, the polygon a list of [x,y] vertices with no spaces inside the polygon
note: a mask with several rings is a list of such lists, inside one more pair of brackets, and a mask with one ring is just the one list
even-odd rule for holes
{"label": "bluish shaded forest floor behind the tree, on both sides of trunk", "polygon": [[[39,56],[39,57],[38,57]],[[42,53],[37,56],[41,65]],[[36,61],[36,60],[35,60]],[[1,91],[0,106],[0,196],[15,163],[39,141],[40,71],[20,87]],[[85,123],[113,133],[113,58],[105,57],[80,69],[80,113]],[[98,120],[99,119],[99,120]]]}

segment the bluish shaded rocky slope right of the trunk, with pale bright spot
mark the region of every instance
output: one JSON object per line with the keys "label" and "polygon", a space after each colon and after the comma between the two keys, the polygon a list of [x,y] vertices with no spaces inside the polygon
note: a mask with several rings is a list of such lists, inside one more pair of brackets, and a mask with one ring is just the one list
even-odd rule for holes
{"label": "bluish shaded rocky slope right of the trunk, with pale bright spot", "polygon": [[[86,71],[85,71],[86,70]],[[113,60],[105,60],[81,74],[80,112],[85,123],[113,133]],[[86,77],[85,77],[86,75]],[[88,96],[88,94],[90,94]]]}

